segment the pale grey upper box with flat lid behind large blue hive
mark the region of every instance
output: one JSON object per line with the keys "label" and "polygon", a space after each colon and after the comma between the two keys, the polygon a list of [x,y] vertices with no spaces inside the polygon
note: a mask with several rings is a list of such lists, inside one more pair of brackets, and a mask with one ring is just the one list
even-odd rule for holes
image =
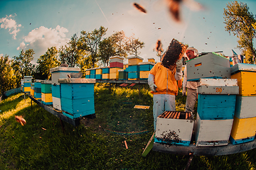
{"label": "pale grey upper box with flat lid behind large blue hive", "polygon": [[50,69],[52,74],[52,84],[60,85],[58,79],[68,78],[68,74],[80,72],[80,68],[75,67],[55,67]]}

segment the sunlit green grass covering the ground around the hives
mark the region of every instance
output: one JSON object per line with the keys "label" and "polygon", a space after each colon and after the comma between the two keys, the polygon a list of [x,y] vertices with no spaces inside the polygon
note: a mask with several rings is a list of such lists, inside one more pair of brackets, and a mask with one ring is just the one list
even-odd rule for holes
{"label": "sunlit green grass covering the ground around the hives", "polygon": [[[149,89],[95,86],[95,119],[73,127],[16,94],[0,103],[0,169],[183,169],[188,156],[149,152],[153,133]],[[186,98],[176,97],[183,111]],[[150,106],[149,110],[133,108]],[[14,115],[23,115],[22,126]],[[128,149],[124,146],[127,141]],[[194,157],[190,169],[255,169],[255,149],[221,157]]]}

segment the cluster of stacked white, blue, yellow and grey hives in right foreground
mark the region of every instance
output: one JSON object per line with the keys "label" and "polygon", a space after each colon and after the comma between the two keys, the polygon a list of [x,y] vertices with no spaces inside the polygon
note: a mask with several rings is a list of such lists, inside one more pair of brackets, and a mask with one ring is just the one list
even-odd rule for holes
{"label": "cluster of stacked white, blue, yellow and grey hives in right foreground", "polygon": [[188,81],[200,81],[196,120],[160,115],[155,141],[188,146],[193,131],[197,147],[254,140],[256,66],[238,63],[230,68],[229,59],[211,53],[188,60],[186,67]]}

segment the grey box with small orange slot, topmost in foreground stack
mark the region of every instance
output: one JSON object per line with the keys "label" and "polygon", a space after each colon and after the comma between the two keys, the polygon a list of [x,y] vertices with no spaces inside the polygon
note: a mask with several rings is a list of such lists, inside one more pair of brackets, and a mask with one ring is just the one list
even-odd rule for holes
{"label": "grey box with small orange slot, topmost in foreground stack", "polygon": [[202,78],[230,79],[231,76],[229,60],[214,52],[188,60],[186,66],[188,81],[198,81]]}

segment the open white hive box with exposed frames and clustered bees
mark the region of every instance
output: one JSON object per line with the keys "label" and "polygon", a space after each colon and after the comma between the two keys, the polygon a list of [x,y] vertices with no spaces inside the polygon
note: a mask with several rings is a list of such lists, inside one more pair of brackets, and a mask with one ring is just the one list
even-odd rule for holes
{"label": "open white hive box with exposed frames and clustered bees", "polygon": [[193,132],[193,116],[188,112],[165,111],[156,119],[154,142],[188,146]]}

